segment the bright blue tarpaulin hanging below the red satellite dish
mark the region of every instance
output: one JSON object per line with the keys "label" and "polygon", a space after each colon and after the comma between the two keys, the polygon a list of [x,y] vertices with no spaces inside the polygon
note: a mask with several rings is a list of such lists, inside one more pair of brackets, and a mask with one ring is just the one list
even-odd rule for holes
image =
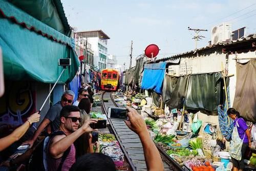
{"label": "bright blue tarpaulin hanging below the red satellite dish", "polygon": [[141,89],[154,90],[157,93],[161,93],[165,66],[166,62],[145,64]]}

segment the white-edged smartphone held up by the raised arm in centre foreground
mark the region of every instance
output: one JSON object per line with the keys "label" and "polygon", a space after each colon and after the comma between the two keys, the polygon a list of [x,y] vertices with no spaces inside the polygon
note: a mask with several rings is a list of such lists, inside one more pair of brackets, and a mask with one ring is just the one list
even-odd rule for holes
{"label": "white-edged smartphone held up by the raised arm in centre foreground", "polygon": [[108,118],[127,120],[126,108],[109,107]]}

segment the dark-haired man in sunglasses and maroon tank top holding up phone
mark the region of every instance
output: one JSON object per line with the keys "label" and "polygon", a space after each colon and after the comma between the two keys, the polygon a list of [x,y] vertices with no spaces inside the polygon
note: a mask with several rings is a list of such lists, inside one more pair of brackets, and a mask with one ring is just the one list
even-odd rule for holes
{"label": "dark-haired man in sunglasses and maroon tank top holding up phone", "polygon": [[55,135],[49,140],[47,170],[69,170],[72,164],[75,163],[74,141],[83,133],[97,131],[90,127],[91,123],[97,123],[97,119],[87,120],[78,129],[80,121],[80,110],[77,106],[66,105],[62,108],[59,126],[62,135]]}

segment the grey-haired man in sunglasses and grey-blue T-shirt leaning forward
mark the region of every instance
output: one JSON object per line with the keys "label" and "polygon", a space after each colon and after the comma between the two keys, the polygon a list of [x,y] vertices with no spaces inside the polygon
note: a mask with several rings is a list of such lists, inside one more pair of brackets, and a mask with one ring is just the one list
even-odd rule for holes
{"label": "grey-haired man in sunglasses and grey-blue T-shirt leaning forward", "polygon": [[59,129],[60,125],[60,119],[59,114],[63,106],[66,105],[72,105],[72,102],[74,100],[75,94],[71,90],[67,90],[63,92],[61,96],[61,100],[51,106],[51,108],[48,110],[45,119],[42,120],[40,125],[37,127],[36,132],[34,133],[34,136],[32,139],[25,141],[23,144],[28,144],[30,148],[33,146],[35,140],[37,137],[41,134],[42,131],[49,125],[51,125],[51,132],[54,132]]}

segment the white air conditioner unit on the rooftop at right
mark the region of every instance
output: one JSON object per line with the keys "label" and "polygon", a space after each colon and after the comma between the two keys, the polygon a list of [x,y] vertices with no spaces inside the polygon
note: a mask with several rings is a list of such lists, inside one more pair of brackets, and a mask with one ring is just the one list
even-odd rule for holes
{"label": "white air conditioner unit on the rooftop at right", "polygon": [[211,29],[211,44],[231,41],[231,24],[223,23]]}

